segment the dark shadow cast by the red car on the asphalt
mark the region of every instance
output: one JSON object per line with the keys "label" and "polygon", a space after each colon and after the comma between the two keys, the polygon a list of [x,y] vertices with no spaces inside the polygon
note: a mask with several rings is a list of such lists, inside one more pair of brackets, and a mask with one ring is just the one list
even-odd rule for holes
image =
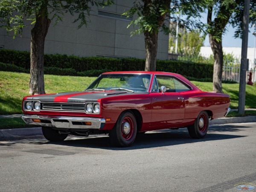
{"label": "dark shadow cast by the red car on the asphalt", "polygon": [[[106,150],[133,150],[133,149],[143,149],[143,148],[155,148],[163,146],[172,145],[182,145],[186,143],[200,143],[214,140],[227,140],[235,139],[239,137],[247,137],[244,135],[232,135],[229,132],[239,132],[242,131],[246,126],[240,125],[218,125],[210,126],[206,137],[202,139],[192,139],[187,131],[187,128],[180,128],[178,130],[164,129],[159,131],[148,131],[145,134],[137,134],[134,144],[130,147],[113,147],[111,145],[108,136],[102,135],[91,135],[89,137],[67,137],[66,140],[62,142],[50,142],[47,140],[28,140],[23,141],[25,143],[32,143],[36,145],[63,145],[63,146],[73,146],[73,147],[83,147],[83,148],[102,148]],[[223,134],[223,132],[226,132]],[[236,133],[237,134],[237,133]],[[19,143],[17,141],[15,143]],[[0,144],[0,145],[13,145],[13,142]]]}

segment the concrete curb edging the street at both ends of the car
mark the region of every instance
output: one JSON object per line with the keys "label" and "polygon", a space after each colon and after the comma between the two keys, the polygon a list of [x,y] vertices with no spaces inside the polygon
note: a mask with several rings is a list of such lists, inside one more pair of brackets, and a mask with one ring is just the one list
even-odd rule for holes
{"label": "concrete curb edging the street at both ends of the car", "polygon": [[[209,125],[222,125],[230,123],[247,123],[256,122],[256,116],[230,117],[214,119],[209,122]],[[41,127],[35,128],[18,128],[18,129],[2,129],[0,130],[0,141],[3,140],[21,140],[26,138],[41,138],[44,137]]]}

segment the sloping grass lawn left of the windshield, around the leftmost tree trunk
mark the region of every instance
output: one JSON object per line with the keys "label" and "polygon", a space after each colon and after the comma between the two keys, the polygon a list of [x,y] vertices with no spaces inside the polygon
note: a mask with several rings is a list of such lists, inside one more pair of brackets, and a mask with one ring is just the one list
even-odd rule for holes
{"label": "sloping grass lawn left of the windshield, around the leftmost tree trunk", "polygon": [[[45,92],[83,91],[95,77],[45,75]],[[21,102],[29,95],[29,74],[0,71],[0,114],[21,114]]]}

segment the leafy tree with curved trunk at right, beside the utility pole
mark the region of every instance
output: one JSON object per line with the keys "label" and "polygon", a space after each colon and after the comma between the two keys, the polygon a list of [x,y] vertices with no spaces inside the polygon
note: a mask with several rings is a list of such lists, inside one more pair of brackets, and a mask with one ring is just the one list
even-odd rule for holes
{"label": "leafy tree with curved trunk at right, beside the utility pole", "polygon": [[[223,50],[222,35],[228,24],[235,29],[235,37],[242,36],[244,0],[210,0],[207,6],[206,32],[214,55],[213,91],[222,91]],[[250,23],[256,23],[256,0],[250,1]]]}

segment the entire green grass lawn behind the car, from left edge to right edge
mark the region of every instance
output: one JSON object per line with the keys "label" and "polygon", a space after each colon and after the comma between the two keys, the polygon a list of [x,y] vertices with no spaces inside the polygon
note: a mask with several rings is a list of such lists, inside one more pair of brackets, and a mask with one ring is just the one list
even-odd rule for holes
{"label": "entire green grass lawn behind the car, from left edge to right edge", "polygon": [[[45,75],[46,93],[82,91],[95,77]],[[192,81],[204,91],[212,91],[212,83]],[[21,102],[29,95],[29,74],[0,71],[0,114],[21,114]],[[230,95],[230,108],[238,108],[239,84],[223,84]],[[256,108],[256,87],[246,85],[245,108]]]}

